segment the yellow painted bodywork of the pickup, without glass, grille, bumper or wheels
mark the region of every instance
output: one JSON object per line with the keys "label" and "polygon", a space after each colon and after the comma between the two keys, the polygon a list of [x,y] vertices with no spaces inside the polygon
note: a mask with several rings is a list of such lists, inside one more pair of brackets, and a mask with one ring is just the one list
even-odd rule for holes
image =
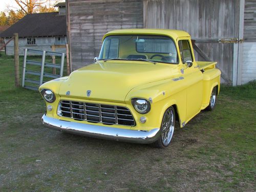
{"label": "yellow painted bodywork of the pickup, without glass, grille, bumper or wheels", "polygon": [[[193,66],[186,68],[181,61],[178,41],[191,40],[188,33],[178,30],[160,29],[126,29],[116,30],[104,35],[150,34],[171,37],[177,47],[179,63],[177,65],[157,62],[156,65],[144,61],[109,60],[98,61],[71,73],[69,77],[46,82],[41,89],[50,89],[56,95],[56,101],[51,103],[53,110],[47,116],[61,120],[87,124],[87,121],[75,121],[57,116],[57,106],[60,99],[82,102],[102,103],[126,106],[130,109],[136,121],[136,126],[107,125],[120,129],[151,130],[161,126],[163,114],[169,106],[174,105],[179,115],[180,126],[205,109],[209,104],[212,89],[218,86],[220,91],[220,70],[215,68],[216,62],[195,61],[193,49]],[[127,51],[131,46],[127,45]],[[125,53],[125,50],[120,50]],[[200,70],[204,69],[202,73]],[[182,74],[181,71],[184,71]],[[174,79],[182,77],[178,81]],[[92,90],[87,97],[87,90]],[[67,96],[66,92],[70,91]],[[132,98],[152,98],[151,111],[139,114],[133,108]],[[145,123],[139,118],[145,116]],[[100,125],[101,123],[98,123]],[[106,125],[104,125],[106,126]]]}

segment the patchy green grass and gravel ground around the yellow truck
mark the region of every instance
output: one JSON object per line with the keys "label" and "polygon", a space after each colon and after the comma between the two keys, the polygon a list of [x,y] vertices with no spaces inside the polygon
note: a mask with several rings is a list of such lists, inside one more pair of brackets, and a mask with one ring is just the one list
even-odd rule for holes
{"label": "patchy green grass and gravel ground around the yellow truck", "polygon": [[159,150],[46,129],[40,94],[14,87],[12,57],[0,72],[0,191],[256,190],[255,81],[222,86],[215,110]]}

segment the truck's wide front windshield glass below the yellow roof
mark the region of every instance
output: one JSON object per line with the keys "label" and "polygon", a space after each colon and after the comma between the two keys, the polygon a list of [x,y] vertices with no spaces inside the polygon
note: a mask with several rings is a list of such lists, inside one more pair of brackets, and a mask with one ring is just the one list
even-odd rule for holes
{"label": "truck's wide front windshield glass below the yellow roof", "polygon": [[178,63],[174,41],[157,35],[113,35],[106,37],[99,60],[150,60]]}

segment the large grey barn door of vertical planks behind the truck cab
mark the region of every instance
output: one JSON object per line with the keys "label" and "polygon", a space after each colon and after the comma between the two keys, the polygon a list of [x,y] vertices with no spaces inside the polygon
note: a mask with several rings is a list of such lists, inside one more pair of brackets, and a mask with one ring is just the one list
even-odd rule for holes
{"label": "large grey barn door of vertical planks behind the truck cab", "polygon": [[[144,27],[184,30],[192,38],[238,38],[239,6],[239,0],[144,0]],[[233,44],[197,45],[232,81]]]}

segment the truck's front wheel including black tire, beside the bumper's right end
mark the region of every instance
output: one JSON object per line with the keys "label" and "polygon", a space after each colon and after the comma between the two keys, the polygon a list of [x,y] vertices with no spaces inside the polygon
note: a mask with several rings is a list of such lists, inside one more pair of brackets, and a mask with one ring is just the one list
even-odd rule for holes
{"label": "truck's front wheel including black tire, beside the bumper's right end", "polygon": [[170,106],[163,115],[161,124],[161,136],[153,143],[157,148],[165,148],[170,144],[173,138],[175,127],[175,110],[173,106]]}

